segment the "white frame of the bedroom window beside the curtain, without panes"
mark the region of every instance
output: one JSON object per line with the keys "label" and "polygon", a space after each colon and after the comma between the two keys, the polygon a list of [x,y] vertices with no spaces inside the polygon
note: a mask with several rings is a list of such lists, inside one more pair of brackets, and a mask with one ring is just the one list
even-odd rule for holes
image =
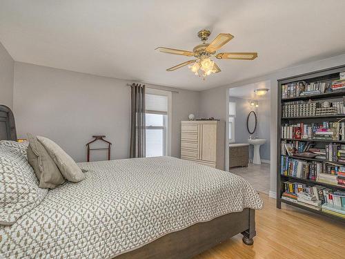
{"label": "white frame of the bedroom window beside the curtain, without panes", "polygon": [[[171,155],[171,124],[172,124],[172,93],[167,90],[160,90],[155,88],[146,88],[146,94],[148,95],[162,95],[168,98],[168,112],[167,116],[164,117],[164,125],[166,126],[146,126],[148,129],[164,129],[163,136],[164,136],[164,152],[163,155]],[[161,113],[160,111],[148,111],[146,113],[150,114],[165,114]]]}

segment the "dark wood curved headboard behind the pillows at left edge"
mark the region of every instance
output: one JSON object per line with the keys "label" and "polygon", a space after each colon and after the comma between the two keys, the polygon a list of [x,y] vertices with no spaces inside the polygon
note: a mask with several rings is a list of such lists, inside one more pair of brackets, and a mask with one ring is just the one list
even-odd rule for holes
{"label": "dark wood curved headboard behind the pillows at left edge", "polygon": [[0,105],[0,140],[17,141],[16,124],[14,116],[8,106]]}

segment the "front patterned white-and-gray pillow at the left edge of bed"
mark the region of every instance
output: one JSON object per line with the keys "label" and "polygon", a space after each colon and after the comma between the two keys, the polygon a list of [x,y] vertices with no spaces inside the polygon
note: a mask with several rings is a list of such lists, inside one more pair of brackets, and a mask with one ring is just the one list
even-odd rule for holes
{"label": "front patterned white-and-gray pillow at the left edge of bed", "polygon": [[11,225],[46,197],[26,157],[0,146],[0,224]]}

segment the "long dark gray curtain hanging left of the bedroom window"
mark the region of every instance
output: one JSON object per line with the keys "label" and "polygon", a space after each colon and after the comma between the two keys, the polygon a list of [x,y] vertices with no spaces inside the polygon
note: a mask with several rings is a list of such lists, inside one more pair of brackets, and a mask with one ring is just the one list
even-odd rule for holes
{"label": "long dark gray curtain hanging left of the bedroom window", "polygon": [[145,157],[145,85],[131,88],[130,157]]}

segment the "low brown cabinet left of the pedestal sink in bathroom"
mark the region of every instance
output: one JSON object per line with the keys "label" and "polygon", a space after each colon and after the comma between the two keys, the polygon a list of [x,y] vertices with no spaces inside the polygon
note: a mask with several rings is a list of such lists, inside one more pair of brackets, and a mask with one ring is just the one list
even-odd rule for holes
{"label": "low brown cabinet left of the pedestal sink in bathroom", "polygon": [[229,144],[229,167],[248,166],[249,144]]}

